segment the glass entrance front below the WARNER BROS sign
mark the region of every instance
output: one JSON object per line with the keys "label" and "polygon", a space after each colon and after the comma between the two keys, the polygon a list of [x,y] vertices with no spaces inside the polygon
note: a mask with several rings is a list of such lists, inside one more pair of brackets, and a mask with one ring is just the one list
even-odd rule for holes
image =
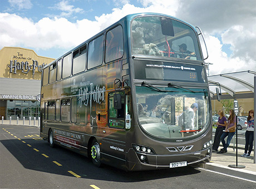
{"label": "glass entrance front below the WARNER BROS sign", "polygon": [[40,117],[40,102],[8,100],[6,116],[7,120],[9,120],[10,117],[12,117],[12,120],[16,120],[17,117],[19,117],[19,119],[25,117],[25,120],[28,120],[29,117],[36,117],[36,119],[38,119],[38,117]]}

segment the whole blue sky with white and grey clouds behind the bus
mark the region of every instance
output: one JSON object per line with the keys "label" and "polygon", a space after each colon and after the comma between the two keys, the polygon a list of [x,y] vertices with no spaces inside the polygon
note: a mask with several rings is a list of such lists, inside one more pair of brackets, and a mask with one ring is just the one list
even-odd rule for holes
{"label": "whole blue sky with white and grey clouds behind the bus", "polygon": [[199,26],[210,75],[256,71],[256,0],[0,0],[0,49],[58,58],[127,14],[142,12]]}

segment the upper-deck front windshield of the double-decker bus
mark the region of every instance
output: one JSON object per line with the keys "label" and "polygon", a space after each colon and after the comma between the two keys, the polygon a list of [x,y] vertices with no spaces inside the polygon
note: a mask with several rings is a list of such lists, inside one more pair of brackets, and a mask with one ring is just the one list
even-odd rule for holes
{"label": "upper-deck front windshield of the double-decker bus", "polygon": [[137,17],[131,24],[132,53],[202,61],[193,28],[174,19]]}

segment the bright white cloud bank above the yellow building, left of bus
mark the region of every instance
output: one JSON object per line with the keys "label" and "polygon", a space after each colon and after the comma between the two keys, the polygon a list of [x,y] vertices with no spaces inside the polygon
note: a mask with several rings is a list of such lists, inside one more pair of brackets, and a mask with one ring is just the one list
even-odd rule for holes
{"label": "bright white cloud bank above the yellow building, left of bus", "polygon": [[[0,13],[0,26],[1,45],[33,49],[69,49],[100,31],[96,22],[87,19],[72,23],[66,18],[55,17],[33,23],[28,18],[8,13]],[[93,29],[87,29],[88,26]]]}

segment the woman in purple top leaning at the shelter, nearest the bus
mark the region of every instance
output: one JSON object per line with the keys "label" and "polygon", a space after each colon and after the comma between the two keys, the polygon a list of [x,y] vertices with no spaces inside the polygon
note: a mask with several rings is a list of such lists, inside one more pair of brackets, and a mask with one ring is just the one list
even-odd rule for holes
{"label": "woman in purple top leaning at the shelter, nearest the bus", "polygon": [[215,130],[213,152],[218,152],[218,148],[220,145],[220,136],[222,135],[223,130],[225,130],[225,127],[227,125],[227,118],[224,116],[224,112],[222,110],[219,110],[218,115],[218,122],[216,122],[216,125],[218,127]]}

